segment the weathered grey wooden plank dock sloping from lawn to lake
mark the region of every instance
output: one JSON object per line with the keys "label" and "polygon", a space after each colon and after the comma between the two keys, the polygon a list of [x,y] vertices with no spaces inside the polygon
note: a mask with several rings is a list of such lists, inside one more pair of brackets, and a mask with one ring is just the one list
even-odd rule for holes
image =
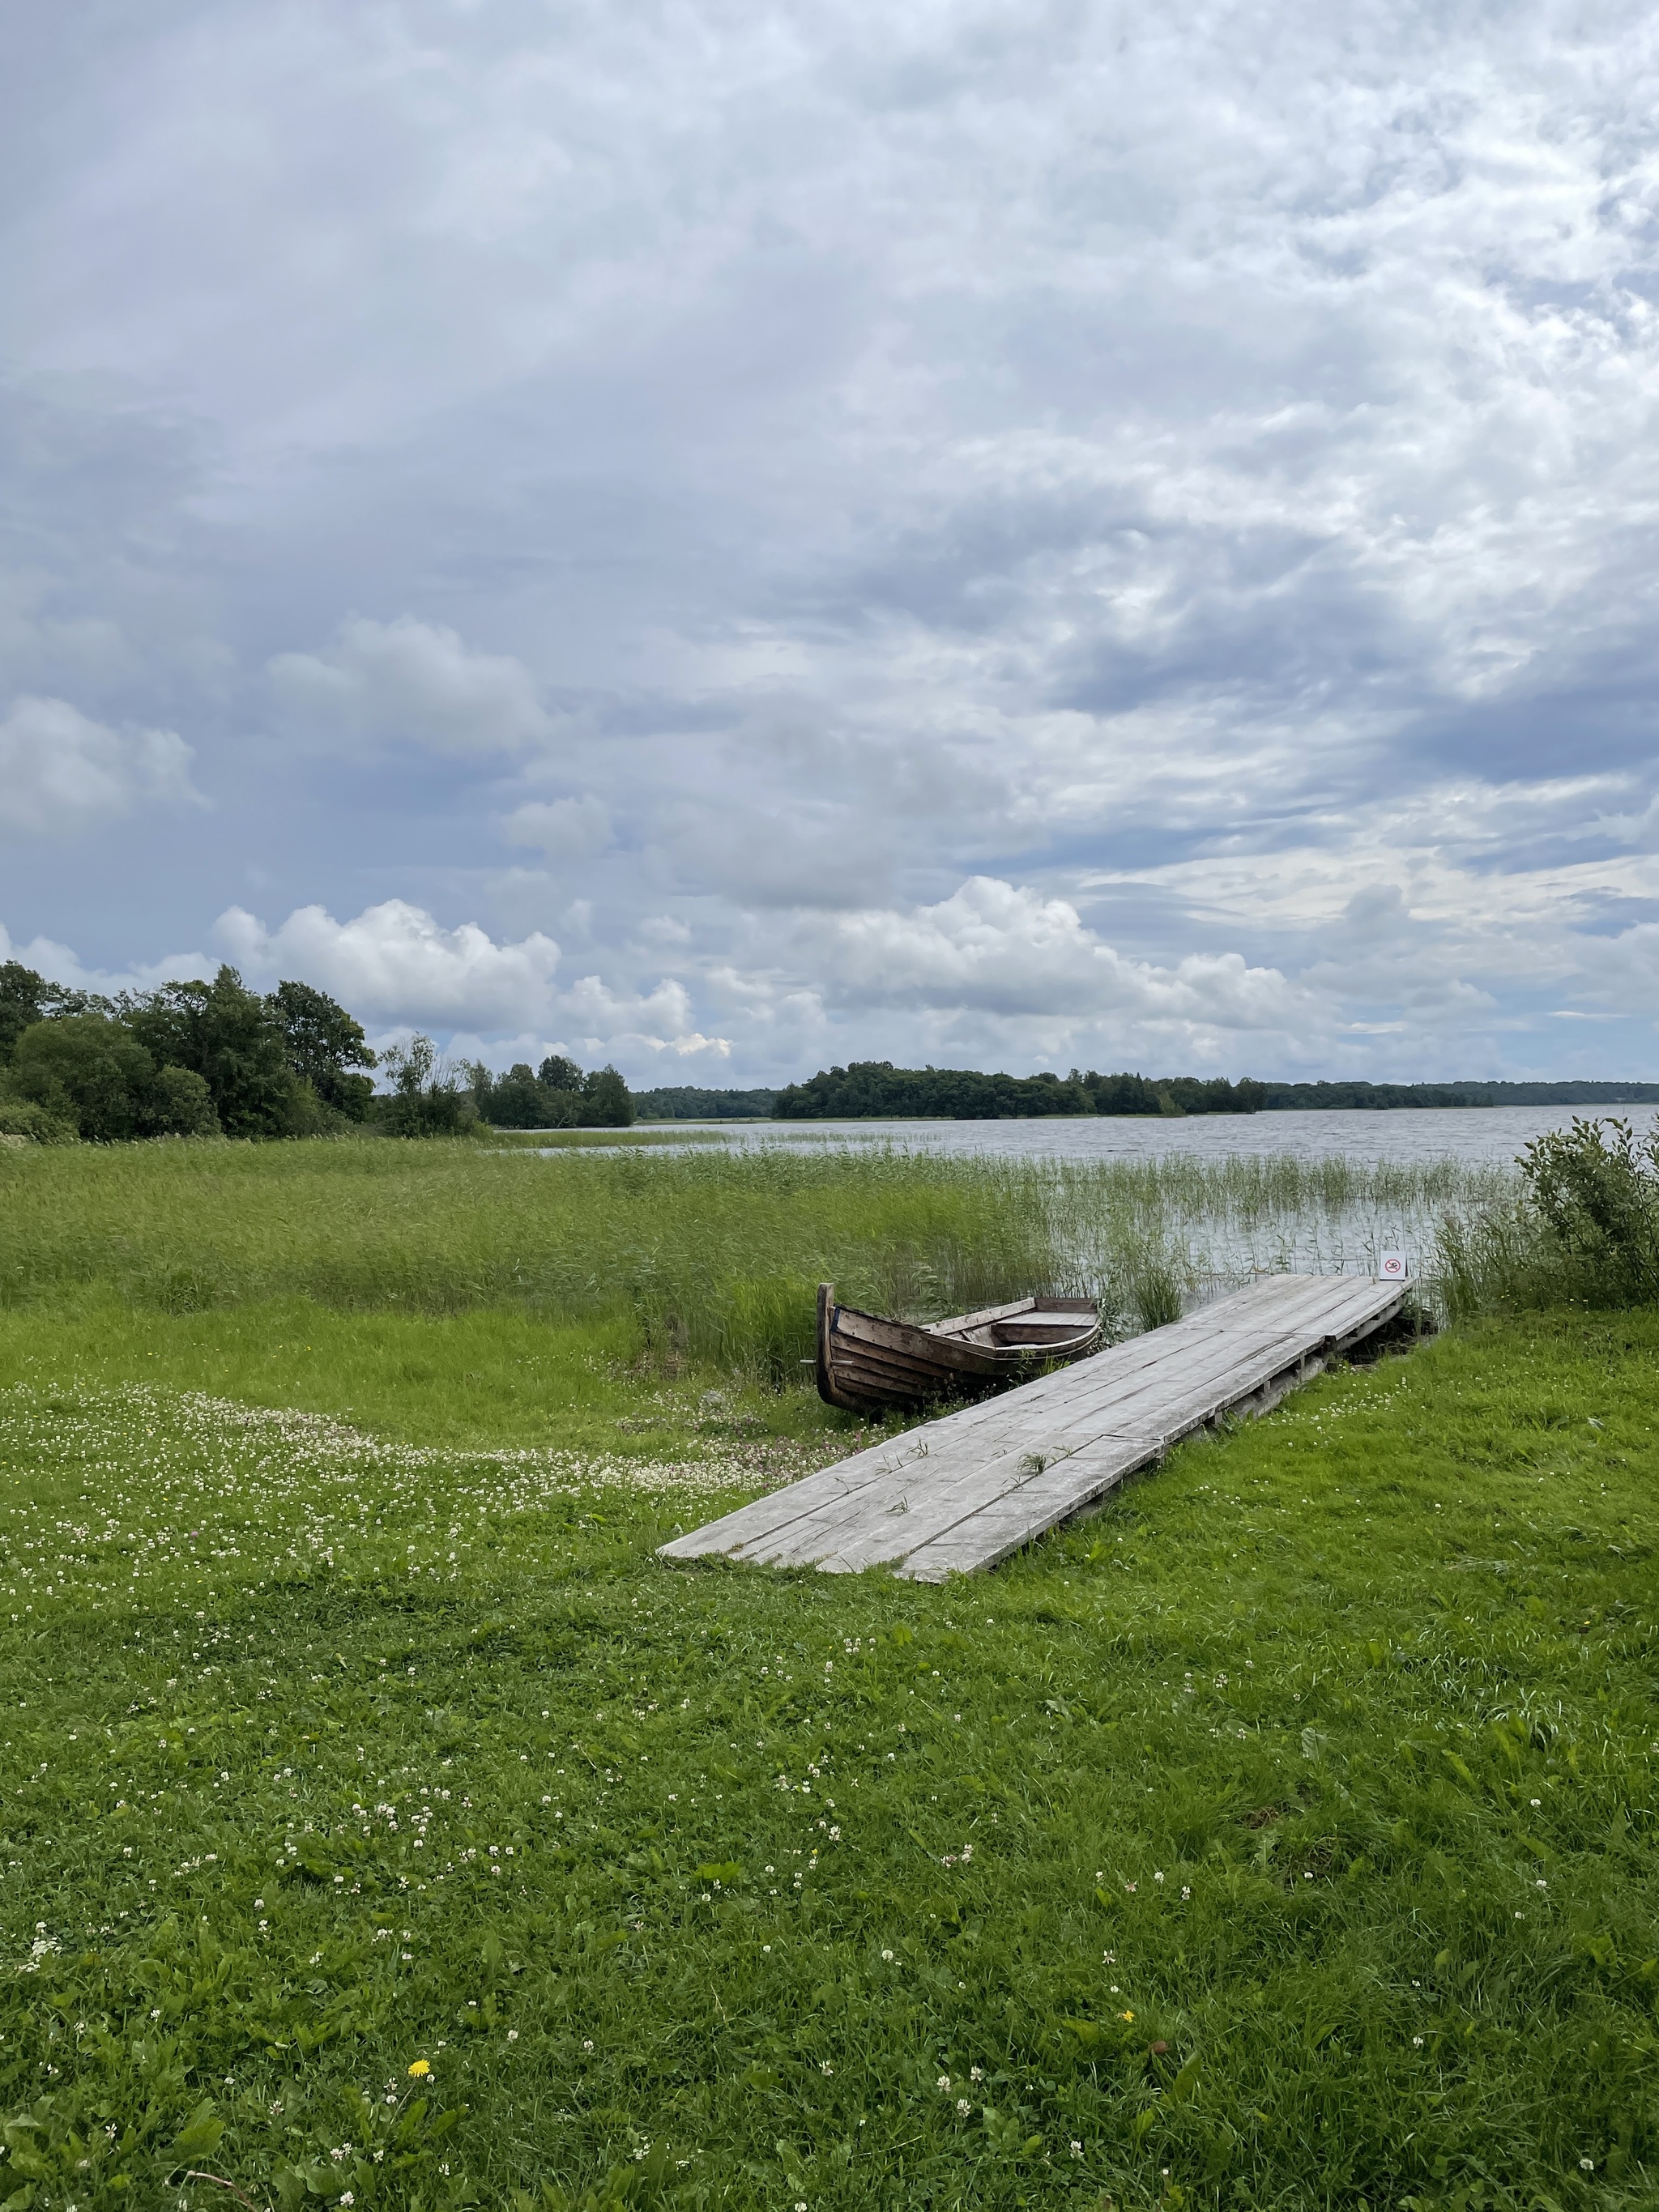
{"label": "weathered grey wooden plank dock sloping from lawn to lake", "polygon": [[1400,1283],[1369,1276],[1263,1276],[1164,1329],[821,1467],[675,1537],[659,1557],[832,1575],[883,1566],[914,1582],[995,1566],[1194,1429],[1265,1413],[1385,1327],[1402,1298]]}

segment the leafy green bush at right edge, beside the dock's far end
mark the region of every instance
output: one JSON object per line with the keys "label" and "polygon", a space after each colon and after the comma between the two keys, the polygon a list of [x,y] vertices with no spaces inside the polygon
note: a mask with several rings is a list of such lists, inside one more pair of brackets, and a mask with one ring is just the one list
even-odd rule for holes
{"label": "leafy green bush at right edge, beside the dock's far end", "polygon": [[1520,1188],[1440,1230],[1438,1290],[1453,1318],[1659,1303],[1659,1124],[1582,1121],[1535,1137]]}

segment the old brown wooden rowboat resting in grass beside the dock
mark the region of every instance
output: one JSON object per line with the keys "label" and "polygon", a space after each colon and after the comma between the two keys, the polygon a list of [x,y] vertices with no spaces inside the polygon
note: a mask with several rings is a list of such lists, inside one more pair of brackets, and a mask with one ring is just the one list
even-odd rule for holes
{"label": "old brown wooden rowboat resting in grass beside the dock", "polygon": [[818,1396],[856,1413],[982,1398],[1099,1349],[1091,1298],[1015,1298],[949,1321],[889,1321],[818,1283]]}

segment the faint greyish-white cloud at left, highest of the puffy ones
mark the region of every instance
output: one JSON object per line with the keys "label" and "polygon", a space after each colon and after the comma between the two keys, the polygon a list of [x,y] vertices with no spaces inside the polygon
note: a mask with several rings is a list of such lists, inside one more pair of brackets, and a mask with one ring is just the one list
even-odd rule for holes
{"label": "faint greyish-white cloud at left, highest of the puffy ones", "polygon": [[434,752],[513,752],[553,732],[524,661],[471,653],[456,630],[414,615],[349,615],[332,646],[276,653],[265,675],[299,719]]}

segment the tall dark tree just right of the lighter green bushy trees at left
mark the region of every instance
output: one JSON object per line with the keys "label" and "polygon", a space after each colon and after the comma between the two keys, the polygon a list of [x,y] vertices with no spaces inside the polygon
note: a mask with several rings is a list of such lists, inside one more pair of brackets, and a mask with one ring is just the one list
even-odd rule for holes
{"label": "tall dark tree just right of the lighter green bushy trees at left", "polygon": [[314,1126],[272,1004],[232,967],[212,982],[166,982],[124,1000],[122,1018],[157,1066],[204,1079],[228,1137],[288,1137]]}

